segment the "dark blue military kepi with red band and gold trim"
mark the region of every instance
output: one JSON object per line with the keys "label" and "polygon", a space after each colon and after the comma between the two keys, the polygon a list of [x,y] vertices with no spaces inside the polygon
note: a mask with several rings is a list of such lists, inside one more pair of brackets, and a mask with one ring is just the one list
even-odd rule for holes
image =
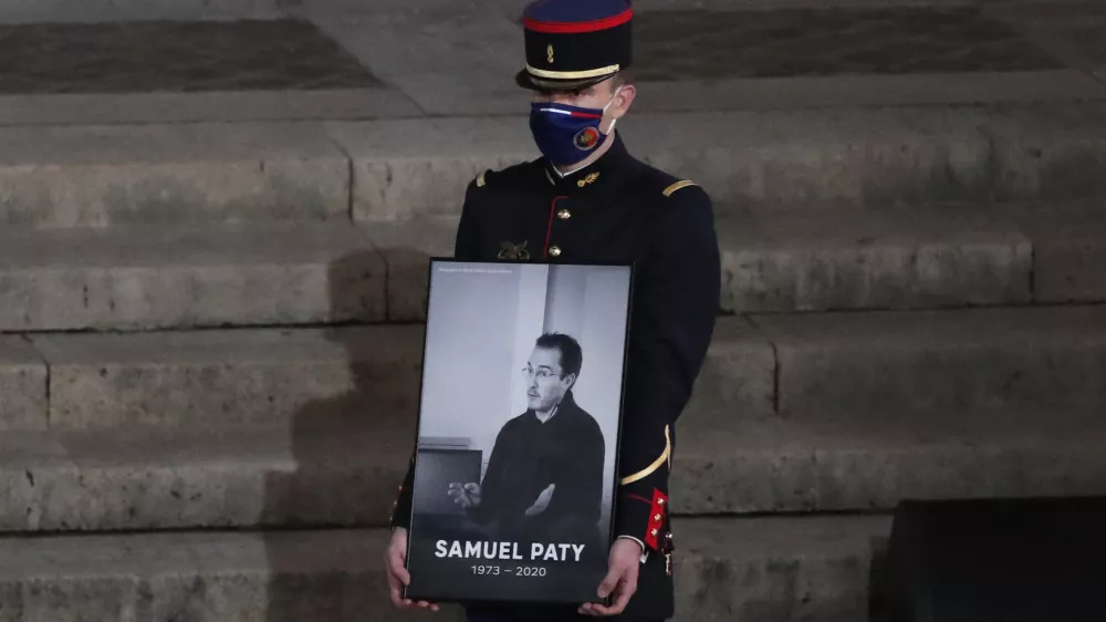
{"label": "dark blue military kepi with red band and gold trim", "polygon": [[515,81],[536,91],[602,82],[633,60],[629,0],[536,0],[522,15],[526,68]]}

